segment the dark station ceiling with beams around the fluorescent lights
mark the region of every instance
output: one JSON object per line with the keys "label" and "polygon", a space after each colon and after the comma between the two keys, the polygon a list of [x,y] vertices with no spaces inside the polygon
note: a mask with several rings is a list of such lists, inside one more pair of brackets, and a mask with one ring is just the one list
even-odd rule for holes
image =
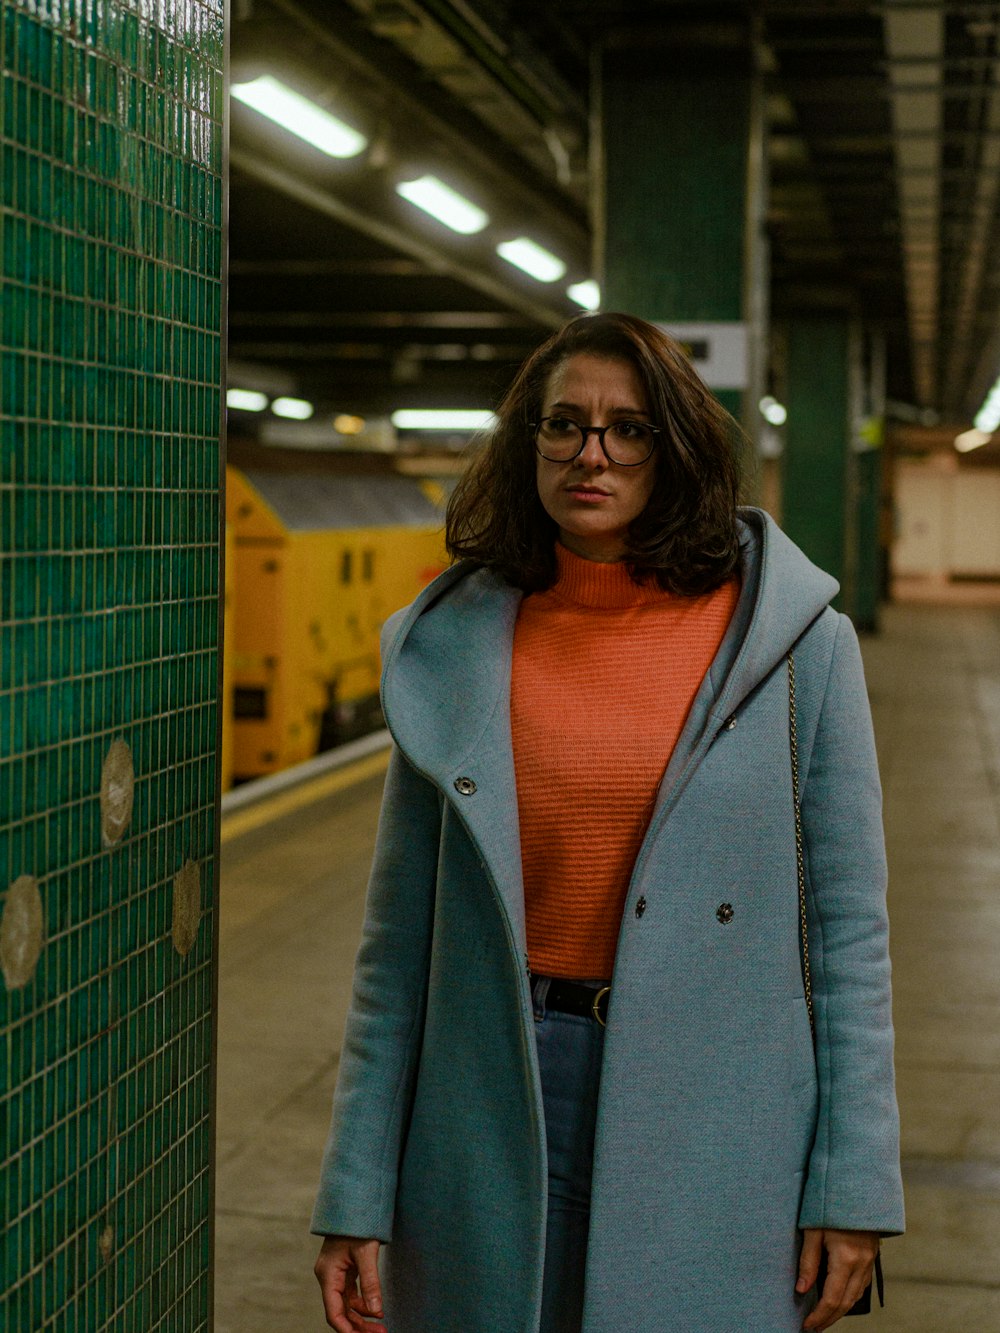
{"label": "dark station ceiling with beams around the fluorescent lights", "polygon": [[[323,412],[488,407],[591,276],[592,53],[748,32],[768,125],[771,309],[884,328],[892,399],[968,420],[1000,368],[1000,4],[235,0],[232,79],[368,140],[337,160],[233,100],[231,357]],[[489,213],[460,236],[395,185]],[[495,251],[529,235],[565,279]],[[232,379],[231,379],[232,383]]]}

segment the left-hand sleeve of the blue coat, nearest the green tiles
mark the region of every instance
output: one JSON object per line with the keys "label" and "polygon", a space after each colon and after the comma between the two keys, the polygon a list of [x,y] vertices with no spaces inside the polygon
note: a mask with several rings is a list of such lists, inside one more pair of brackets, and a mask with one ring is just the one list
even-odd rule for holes
{"label": "left-hand sleeve of the blue coat, nearest the green tiles", "polygon": [[392,1240],[427,994],[441,810],[393,749],[311,1230]]}

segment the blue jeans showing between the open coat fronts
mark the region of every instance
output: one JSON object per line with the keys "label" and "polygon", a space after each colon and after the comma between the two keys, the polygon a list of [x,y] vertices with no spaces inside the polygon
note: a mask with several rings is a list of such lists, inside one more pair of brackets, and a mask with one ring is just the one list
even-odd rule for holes
{"label": "blue jeans showing between the open coat fronts", "polygon": [[548,977],[532,992],[548,1138],[548,1221],[541,1333],[580,1333],[591,1221],[593,1130],[604,1028],[545,1009]]}

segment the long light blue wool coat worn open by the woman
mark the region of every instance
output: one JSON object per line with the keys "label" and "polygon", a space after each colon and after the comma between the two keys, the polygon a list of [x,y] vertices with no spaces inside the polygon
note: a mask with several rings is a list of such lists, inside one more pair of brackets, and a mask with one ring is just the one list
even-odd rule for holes
{"label": "long light blue wool coat worn open by the woman", "polygon": [[[584,1333],[792,1333],[812,1304],[793,1294],[800,1226],[903,1229],[881,797],[857,640],[828,607],[836,583],[767,516],[743,519],[743,593],[621,918]],[[313,1230],[391,1241],[391,1333],[539,1329],[545,1133],[509,729],[520,596],[457,565],[384,640],[396,752]],[[456,789],[463,777],[473,793]]]}

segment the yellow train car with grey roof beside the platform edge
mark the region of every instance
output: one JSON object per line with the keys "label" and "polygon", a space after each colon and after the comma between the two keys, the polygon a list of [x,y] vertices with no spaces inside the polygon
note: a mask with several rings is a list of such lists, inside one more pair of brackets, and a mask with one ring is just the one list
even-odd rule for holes
{"label": "yellow train car with grey roof beside the platform edge", "polygon": [[273,773],[377,726],[379,633],[447,564],[421,484],[227,468],[232,770]]}

